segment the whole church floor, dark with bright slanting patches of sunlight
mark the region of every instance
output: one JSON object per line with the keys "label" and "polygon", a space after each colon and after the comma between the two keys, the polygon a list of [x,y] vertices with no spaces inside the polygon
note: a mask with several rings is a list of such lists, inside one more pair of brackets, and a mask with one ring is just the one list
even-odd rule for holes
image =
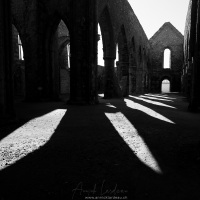
{"label": "whole church floor, dark with bright slanting patches of sunlight", "polygon": [[0,200],[200,199],[200,112],[179,94],[16,103],[0,127]]}

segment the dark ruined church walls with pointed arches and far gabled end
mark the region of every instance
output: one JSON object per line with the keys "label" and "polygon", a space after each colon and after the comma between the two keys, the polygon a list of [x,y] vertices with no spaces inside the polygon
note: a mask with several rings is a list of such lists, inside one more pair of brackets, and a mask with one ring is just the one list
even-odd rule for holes
{"label": "dark ruined church walls with pointed arches and far gabled end", "polygon": [[[8,56],[14,59],[9,62],[10,75],[1,74],[1,79],[10,83],[3,88],[1,82],[2,114],[13,115],[16,96],[26,101],[40,101],[60,99],[64,95],[68,97],[69,104],[96,104],[98,93],[104,93],[105,98],[120,98],[129,94],[161,92],[161,80],[165,76],[171,79],[171,92],[182,92],[188,98],[190,110],[198,109],[198,92],[192,89],[196,88],[193,86],[196,81],[189,75],[191,70],[185,67],[188,62],[183,60],[184,50],[186,56],[187,49],[191,49],[186,47],[191,43],[184,43],[184,36],[169,22],[148,40],[139,21],[131,23],[137,17],[126,0],[126,8],[123,9],[131,15],[116,16],[115,13],[122,12],[120,3],[113,8],[113,1],[101,4],[97,1],[91,6],[98,9],[91,9],[95,11],[88,14],[93,20],[84,21],[84,28],[81,28],[83,22],[74,23],[75,17],[70,14],[74,6],[82,13],[80,16],[77,14],[77,19],[90,19],[84,16],[84,9],[77,8],[76,3],[72,5],[66,1],[63,6],[63,3],[54,5],[43,1],[33,1],[30,5],[29,1],[11,2],[10,19],[6,16],[5,20],[8,25],[13,23],[14,28],[11,31],[8,27],[6,31],[10,31],[10,36],[2,33],[2,37],[9,39],[12,35],[10,46],[13,46],[13,51],[8,51]],[[22,18],[24,13],[28,17]],[[97,52],[97,22],[101,30],[101,54]],[[189,31],[188,28],[186,30]],[[17,34],[21,40],[16,39]],[[185,38],[188,38],[187,35]],[[19,41],[21,50],[23,48],[23,60],[17,59],[17,53],[21,53],[17,50]],[[167,51],[169,61],[166,67]],[[101,56],[101,65],[97,63],[97,55]]]}

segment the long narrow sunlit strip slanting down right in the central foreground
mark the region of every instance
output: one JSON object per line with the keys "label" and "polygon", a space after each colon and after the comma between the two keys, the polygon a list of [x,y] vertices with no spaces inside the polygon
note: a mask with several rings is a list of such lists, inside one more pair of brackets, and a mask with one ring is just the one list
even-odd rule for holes
{"label": "long narrow sunlit strip slanting down right in the central foreground", "polygon": [[105,115],[140,161],[161,174],[162,171],[157,161],[131,122],[121,112],[105,113]]}

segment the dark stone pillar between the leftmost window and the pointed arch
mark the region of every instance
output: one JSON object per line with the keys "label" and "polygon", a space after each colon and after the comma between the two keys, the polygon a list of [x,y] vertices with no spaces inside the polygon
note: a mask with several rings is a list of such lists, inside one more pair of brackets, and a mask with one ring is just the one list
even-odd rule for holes
{"label": "dark stone pillar between the leftmost window and the pointed arch", "polygon": [[[25,62],[25,99],[26,101],[38,101],[45,95],[45,67],[42,62],[46,57],[41,54],[44,49],[42,49],[42,43],[39,41],[39,34],[43,30],[39,28],[37,1],[32,1],[27,7],[26,13],[28,17],[24,18],[23,23],[26,26],[22,29],[21,37]],[[42,57],[39,60],[40,55]]]}

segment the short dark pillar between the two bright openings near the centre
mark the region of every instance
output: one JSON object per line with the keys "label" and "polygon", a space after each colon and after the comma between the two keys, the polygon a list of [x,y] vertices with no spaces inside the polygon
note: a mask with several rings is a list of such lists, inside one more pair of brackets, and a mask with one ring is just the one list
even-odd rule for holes
{"label": "short dark pillar between the two bright openings near the centre", "polygon": [[104,57],[105,62],[105,80],[104,80],[104,98],[122,97],[121,89],[118,84],[115,73],[115,58]]}

